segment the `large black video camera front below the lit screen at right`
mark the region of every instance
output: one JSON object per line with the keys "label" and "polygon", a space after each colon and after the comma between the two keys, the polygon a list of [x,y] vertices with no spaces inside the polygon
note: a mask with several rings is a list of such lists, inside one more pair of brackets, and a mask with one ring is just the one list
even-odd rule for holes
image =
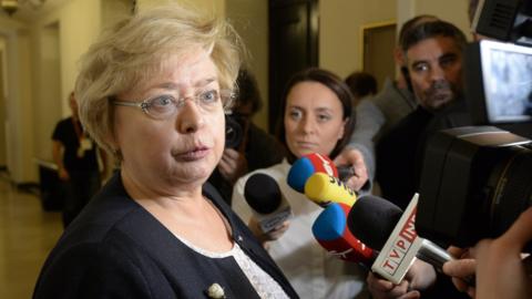
{"label": "large black video camera front below the lit screen at right", "polygon": [[[441,245],[497,238],[532,205],[532,141],[492,126],[434,135],[420,179],[416,229]],[[532,251],[529,244],[526,251]]]}

